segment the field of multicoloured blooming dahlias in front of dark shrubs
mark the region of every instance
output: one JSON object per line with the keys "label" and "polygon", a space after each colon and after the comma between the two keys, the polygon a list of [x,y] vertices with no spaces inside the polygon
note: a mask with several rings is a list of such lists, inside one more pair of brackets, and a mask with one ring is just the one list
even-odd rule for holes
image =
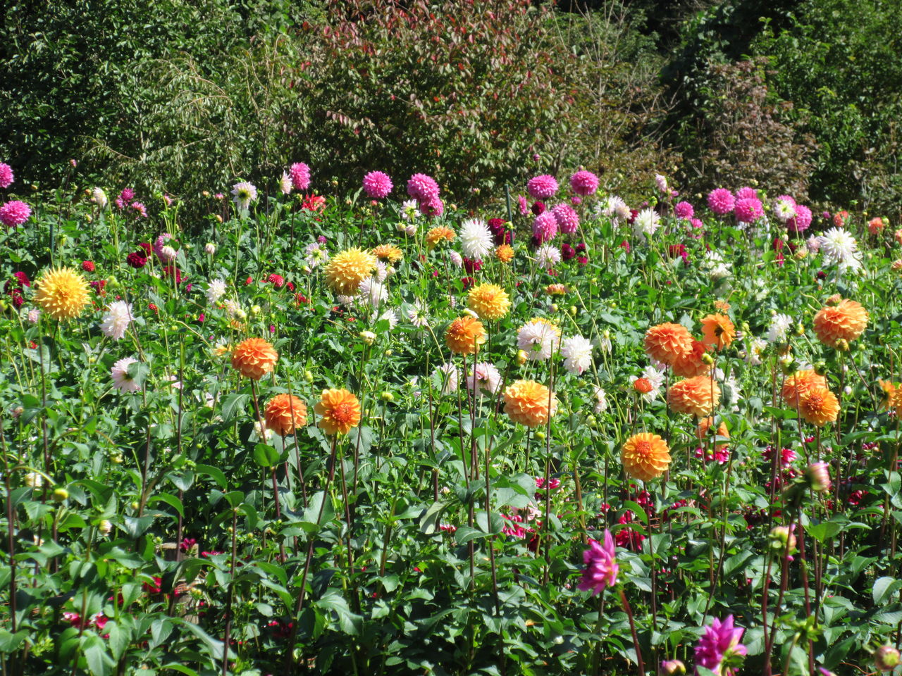
{"label": "field of multicoloured blooming dahlias in front of dark shrubs", "polygon": [[382,169],[0,163],[4,675],[902,673],[902,229]]}

